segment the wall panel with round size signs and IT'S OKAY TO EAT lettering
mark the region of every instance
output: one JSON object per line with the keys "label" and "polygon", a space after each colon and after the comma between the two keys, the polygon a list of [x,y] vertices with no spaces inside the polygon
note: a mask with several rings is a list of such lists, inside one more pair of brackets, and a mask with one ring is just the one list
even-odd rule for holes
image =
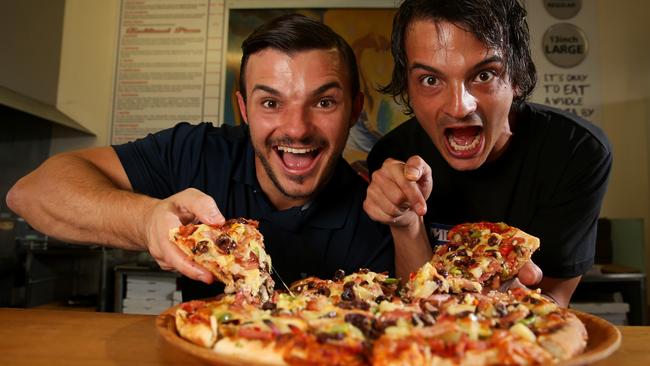
{"label": "wall panel with round size signs and IT'S OKAY TO EAT lettering", "polygon": [[597,2],[527,0],[537,88],[532,101],[598,122]]}

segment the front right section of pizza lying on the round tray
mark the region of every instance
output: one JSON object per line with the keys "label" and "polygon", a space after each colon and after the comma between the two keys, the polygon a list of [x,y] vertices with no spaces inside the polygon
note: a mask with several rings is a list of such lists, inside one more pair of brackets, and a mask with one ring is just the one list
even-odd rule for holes
{"label": "front right section of pizza lying on the round tray", "polygon": [[373,345],[374,365],[549,364],[586,346],[584,325],[539,291],[436,294],[380,311],[397,319]]}

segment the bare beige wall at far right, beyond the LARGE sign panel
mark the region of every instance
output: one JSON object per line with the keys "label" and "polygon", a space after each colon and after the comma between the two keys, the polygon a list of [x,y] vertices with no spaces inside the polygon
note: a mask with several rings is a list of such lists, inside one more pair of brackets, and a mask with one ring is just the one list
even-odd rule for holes
{"label": "bare beige wall at far right, beyond the LARGE sign panel", "polygon": [[650,268],[650,2],[599,0],[603,114],[614,147],[602,215],[643,218]]}

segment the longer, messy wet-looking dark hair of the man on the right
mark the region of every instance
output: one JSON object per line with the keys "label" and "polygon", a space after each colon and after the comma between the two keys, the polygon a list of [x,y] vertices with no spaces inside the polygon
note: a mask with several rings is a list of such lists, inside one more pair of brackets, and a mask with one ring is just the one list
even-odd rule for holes
{"label": "longer, messy wet-looking dark hair of the man on the right", "polygon": [[533,92],[537,74],[530,55],[526,10],[517,0],[405,0],[393,18],[393,76],[379,91],[392,95],[407,114],[413,114],[413,109],[406,91],[405,36],[416,20],[454,23],[488,47],[501,51],[510,82],[517,90],[514,107]]}

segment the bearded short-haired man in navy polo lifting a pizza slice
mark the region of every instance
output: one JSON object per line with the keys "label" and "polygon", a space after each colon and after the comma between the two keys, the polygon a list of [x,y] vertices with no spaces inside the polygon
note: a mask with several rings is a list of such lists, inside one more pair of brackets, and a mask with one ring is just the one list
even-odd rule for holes
{"label": "bearded short-haired man in navy polo lifting a pizza slice", "polygon": [[392,273],[389,229],[363,211],[367,184],[341,156],[363,106],[350,46],[322,23],[288,15],[256,29],[242,50],[245,125],[181,123],[55,156],[16,183],[9,207],[65,241],[148,250],[187,276],[184,300],[223,287],[206,285],[212,275],[170,242],[181,222],[258,220],[286,282],[337,269]]}

